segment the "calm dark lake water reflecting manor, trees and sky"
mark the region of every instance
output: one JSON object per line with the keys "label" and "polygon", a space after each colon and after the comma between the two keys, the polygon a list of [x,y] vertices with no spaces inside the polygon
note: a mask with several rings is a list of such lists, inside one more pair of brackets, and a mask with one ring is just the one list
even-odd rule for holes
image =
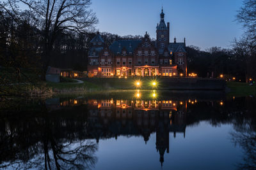
{"label": "calm dark lake water reflecting manor, trees and sky", "polygon": [[222,92],[157,90],[8,103],[0,167],[254,169],[255,104]]}

